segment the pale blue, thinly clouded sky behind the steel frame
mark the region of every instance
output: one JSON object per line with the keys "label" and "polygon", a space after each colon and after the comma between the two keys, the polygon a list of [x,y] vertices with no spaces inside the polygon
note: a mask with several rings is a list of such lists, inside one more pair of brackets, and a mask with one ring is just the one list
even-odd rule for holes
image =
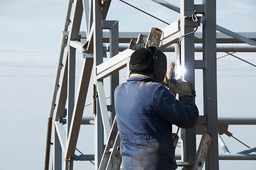
{"label": "pale blue, thinly clouded sky behind the steel frame", "polygon": [[[128,1],[130,4],[168,23],[179,15],[152,1]],[[170,1],[179,6],[179,1]],[[199,4],[200,1],[197,2]],[[0,164],[1,170],[43,169],[47,121],[57,74],[62,30],[68,1],[9,0],[0,1]],[[217,1],[217,24],[234,32],[256,32],[256,1]],[[127,11],[127,12],[124,12]],[[118,20],[120,31],[147,32],[166,24],[113,0],[107,16]],[[85,28],[82,26],[82,29]],[[200,54],[198,54],[200,56]],[[226,55],[218,53],[217,57]],[[256,64],[255,52],[234,55]],[[80,63],[81,64],[81,63]],[[218,64],[218,115],[255,118],[256,69],[250,64],[227,56]],[[79,65],[79,63],[78,63]],[[79,72],[77,72],[77,77]],[[201,81],[201,73],[196,74]],[[196,84],[202,109],[201,85]],[[88,102],[87,102],[88,103]],[[91,115],[90,113],[86,113]],[[255,125],[230,125],[229,131],[250,147],[256,147]],[[93,154],[93,127],[82,127],[79,150]],[[87,134],[83,138],[83,134]],[[80,136],[79,136],[80,137]],[[230,152],[247,149],[233,138],[223,135]],[[223,154],[223,151],[220,150]],[[74,167],[92,169],[91,163],[75,162]],[[220,169],[255,169],[255,161],[221,161]]]}

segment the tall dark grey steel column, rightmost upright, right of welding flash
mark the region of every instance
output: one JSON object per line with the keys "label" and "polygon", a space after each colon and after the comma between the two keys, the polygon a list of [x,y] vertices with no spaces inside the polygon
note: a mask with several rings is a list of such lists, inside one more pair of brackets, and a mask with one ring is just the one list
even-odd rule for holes
{"label": "tall dark grey steel column, rightmost upright, right of welding flash", "polygon": [[204,115],[207,132],[211,134],[211,145],[206,158],[206,170],[218,170],[218,108],[216,76],[216,0],[203,1],[203,60],[206,69],[204,79]]}

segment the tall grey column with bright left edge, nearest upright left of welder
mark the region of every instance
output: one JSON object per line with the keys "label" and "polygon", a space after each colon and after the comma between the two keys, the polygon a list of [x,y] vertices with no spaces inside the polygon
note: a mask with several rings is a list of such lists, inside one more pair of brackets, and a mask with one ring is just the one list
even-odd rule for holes
{"label": "tall grey column with bright left edge, nearest upright left of welder", "polygon": [[[93,25],[94,25],[94,83],[97,85],[96,79],[96,66],[103,62],[103,33],[102,33],[102,11],[101,1],[93,1]],[[101,157],[104,152],[104,136],[103,136],[103,124],[101,119],[101,109],[99,107],[99,101],[96,102],[96,115],[94,118],[95,128],[95,160],[94,169],[98,169],[101,162]]]}

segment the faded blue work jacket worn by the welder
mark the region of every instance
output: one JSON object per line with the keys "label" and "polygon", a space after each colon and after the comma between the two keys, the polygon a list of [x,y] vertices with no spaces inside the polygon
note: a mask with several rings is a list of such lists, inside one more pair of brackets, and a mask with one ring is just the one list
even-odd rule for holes
{"label": "faded blue work jacket worn by the welder", "polygon": [[157,80],[131,74],[114,94],[124,170],[177,169],[172,124],[195,125],[199,111],[191,97],[178,101]]}

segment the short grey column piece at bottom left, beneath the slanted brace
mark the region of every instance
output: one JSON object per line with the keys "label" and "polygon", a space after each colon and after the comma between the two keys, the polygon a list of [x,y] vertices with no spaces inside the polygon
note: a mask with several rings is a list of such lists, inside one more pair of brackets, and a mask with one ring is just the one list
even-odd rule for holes
{"label": "short grey column piece at bottom left, beneath the slanted brace", "polygon": [[54,143],[53,143],[53,170],[62,169],[62,147],[57,135],[56,128],[54,128]]}

